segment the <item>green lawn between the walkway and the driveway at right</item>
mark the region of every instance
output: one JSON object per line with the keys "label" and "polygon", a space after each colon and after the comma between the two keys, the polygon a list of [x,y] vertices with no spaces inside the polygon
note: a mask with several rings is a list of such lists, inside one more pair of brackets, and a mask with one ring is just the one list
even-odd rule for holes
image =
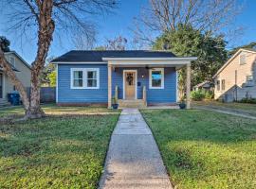
{"label": "green lawn between the walkway and the driveway at right", "polygon": [[256,121],[200,110],[142,110],[177,188],[256,188]]}

